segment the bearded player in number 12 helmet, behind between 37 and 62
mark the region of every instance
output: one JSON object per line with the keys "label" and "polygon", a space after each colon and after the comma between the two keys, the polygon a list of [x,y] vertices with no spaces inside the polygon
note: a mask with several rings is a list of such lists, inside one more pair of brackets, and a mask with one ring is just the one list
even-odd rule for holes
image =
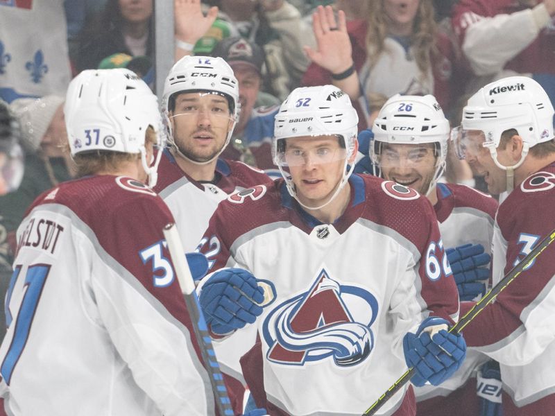
{"label": "bearded player in number 12 helmet, behind between 37 and 62", "polygon": [[196,248],[228,194],[271,181],[242,162],[219,159],[239,110],[237,79],[222,58],[185,56],[173,65],[162,96],[170,146],[154,190],[176,218],[186,251]]}

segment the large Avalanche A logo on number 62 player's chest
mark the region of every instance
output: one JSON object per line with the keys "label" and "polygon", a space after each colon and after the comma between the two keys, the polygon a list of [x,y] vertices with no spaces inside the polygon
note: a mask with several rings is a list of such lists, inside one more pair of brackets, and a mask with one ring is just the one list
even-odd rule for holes
{"label": "large Avalanche A logo on number 62 player's chest", "polygon": [[374,347],[370,327],[377,311],[377,300],[368,291],[342,286],[323,269],[309,291],[286,300],[264,320],[266,356],[282,365],[328,357],[341,367],[357,365]]}

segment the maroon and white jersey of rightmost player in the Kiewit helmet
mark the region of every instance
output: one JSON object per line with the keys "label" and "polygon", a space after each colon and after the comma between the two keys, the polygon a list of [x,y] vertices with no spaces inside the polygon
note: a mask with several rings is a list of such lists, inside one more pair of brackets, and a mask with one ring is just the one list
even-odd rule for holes
{"label": "maroon and white jersey of rightmost player in the Kiewit helmet", "polygon": [[[555,228],[555,164],[533,173],[499,205],[493,283]],[[469,346],[499,361],[504,413],[555,408],[555,245],[549,246],[463,331]],[[512,400],[511,400],[512,399]]]}

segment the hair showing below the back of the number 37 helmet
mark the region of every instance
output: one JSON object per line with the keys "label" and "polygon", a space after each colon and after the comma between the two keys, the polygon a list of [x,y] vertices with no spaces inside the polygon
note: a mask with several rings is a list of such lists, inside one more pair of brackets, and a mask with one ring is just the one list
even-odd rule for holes
{"label": "hair showing below the back of the number 37 helmet", "polygon": [[[145,133],[145,144],[156,144],[156,132],[149,125]],[[74,156],[77,166],[77,176],[95,175],[99,172],[115,172],[121,164],[140,159],[139,153],[110,152],[96,150],[87,153],[78,153]]]}

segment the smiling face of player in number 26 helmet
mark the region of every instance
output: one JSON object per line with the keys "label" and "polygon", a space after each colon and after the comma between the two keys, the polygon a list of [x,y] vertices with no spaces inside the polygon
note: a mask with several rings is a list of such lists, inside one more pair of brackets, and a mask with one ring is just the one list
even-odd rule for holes
{"label": "smiling face of player in number 26 helmet", "polygon": [[382,144],[379,168],[386,180],[425,195],[436,173],[434,144]]}

